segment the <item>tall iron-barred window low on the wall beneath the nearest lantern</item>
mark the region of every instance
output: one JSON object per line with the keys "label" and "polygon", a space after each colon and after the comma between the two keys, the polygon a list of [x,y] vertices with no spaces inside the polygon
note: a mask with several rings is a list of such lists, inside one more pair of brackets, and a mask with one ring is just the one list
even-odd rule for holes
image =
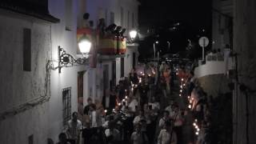
{"label": "tall iron-barred window low on the wall beneath the nearest lantern", "polygon": [[63,126],[66,128],[67,122],[71,119],[71,87],[62,90],[62,104]]}

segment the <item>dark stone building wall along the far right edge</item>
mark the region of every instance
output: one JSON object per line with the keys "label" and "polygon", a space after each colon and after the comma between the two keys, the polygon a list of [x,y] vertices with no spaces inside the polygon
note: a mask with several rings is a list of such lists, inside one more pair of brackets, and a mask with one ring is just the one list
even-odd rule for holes
{"label": "dark stone building wall along the far right edge", "polygon": [[[256,143],[255,16],[256,1],[234,0],[234,52],[238,54],[238,79],[234,80],[234,144]],[[242,85],[246,90],[239,90]]]}

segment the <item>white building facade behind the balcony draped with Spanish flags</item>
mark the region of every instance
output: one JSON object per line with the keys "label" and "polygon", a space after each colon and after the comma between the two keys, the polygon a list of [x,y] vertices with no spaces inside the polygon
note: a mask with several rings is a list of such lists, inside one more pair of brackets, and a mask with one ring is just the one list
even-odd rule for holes
{"label": "white building facade behind the balcony draped with Spanish flags", "polygon": [[[106,26],[116,24],[126,28],[125,36],[129,37],[130,30],[138,30],[138,1],[137,0],[80,0],[82,13],[78,16],[78,22],[82,22],[82,14],[89,13],[90,21],[94,22],[94,28],[98,25],[98,19],[104,18]],[[122,56],[99,55],[97,68],[90,70],[93,77],[85,84],[84,104],[86,99],[93,96],[99,101],[105,94],[104,90],[110,89],[112,85],[118,84],[120,78],[128,76],[130,70],[138,63],[138,45],[126,44],[126,54]],[[110,82],[111,81],[111,82]],[[93,82],[94,85],[90,85]]]}

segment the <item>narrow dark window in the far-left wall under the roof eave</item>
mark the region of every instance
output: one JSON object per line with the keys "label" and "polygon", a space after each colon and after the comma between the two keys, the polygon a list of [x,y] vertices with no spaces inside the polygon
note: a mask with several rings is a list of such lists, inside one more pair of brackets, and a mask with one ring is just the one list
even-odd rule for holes
{"label": "narrow dark window in the far-left wall under the roof eave", "polygon": [[23,70],[31,71],[31,30],[23,30]]}

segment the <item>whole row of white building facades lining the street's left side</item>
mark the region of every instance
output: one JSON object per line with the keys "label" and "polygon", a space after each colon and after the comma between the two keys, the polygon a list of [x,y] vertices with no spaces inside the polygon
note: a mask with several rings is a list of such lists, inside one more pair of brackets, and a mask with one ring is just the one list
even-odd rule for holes
{"label": "whole row of white building facades lining the street's left side", "polygon": [[96,68],[51,70],[58,66],[58,46],[77,58],[77,27],[84,12],[94,26],[103,15],[107,25],[137,30],[137,1],[30,2],[38,2],[45,14],[24,13],[14,10],[13,3],[0,2],[0,143],[5,144],[57,142],[72,112],[79,112],[88,97],[101,101],[110,80],[118,82],[138,62],[137,45],[130,45],[122,58],[98,56]]}

